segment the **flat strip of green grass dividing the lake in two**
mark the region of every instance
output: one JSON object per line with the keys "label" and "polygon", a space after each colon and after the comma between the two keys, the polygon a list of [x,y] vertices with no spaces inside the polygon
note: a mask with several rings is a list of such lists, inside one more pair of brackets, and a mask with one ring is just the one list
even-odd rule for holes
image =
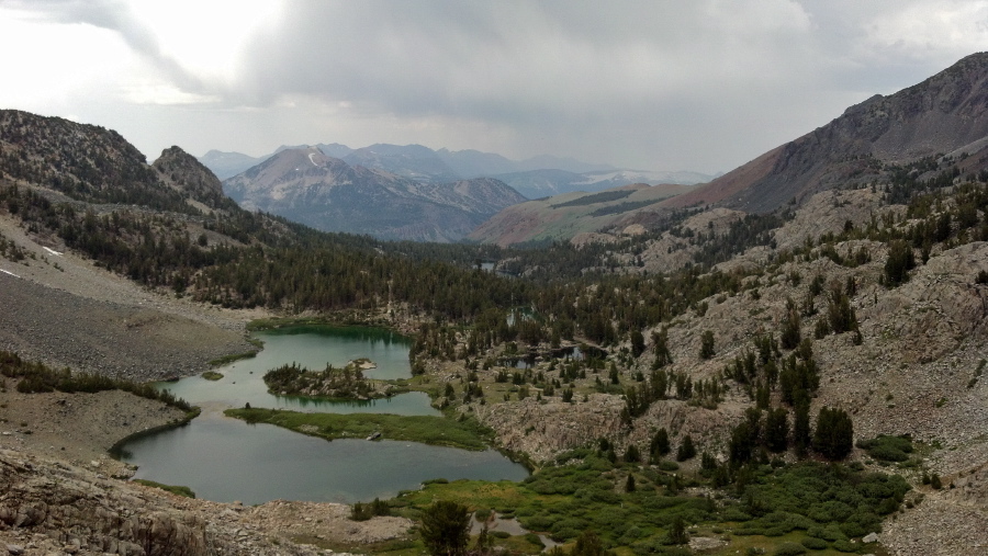
{"label": "flat strip of green grass dividing the lake in two", "polygon": [[463,450],[486,450],[491,433],[473,419],[462,421],[431,416],[388,413],[300,413],[278,409],[227,409],[229,417],[250,423],[263,422],[285,429],[334,439],[366,439],[380,432],[382,439],[407,440]]}

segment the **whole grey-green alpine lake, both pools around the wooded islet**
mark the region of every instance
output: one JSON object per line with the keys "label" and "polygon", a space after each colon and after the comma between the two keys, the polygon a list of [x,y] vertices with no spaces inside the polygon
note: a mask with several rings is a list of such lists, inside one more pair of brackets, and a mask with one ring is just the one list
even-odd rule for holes
{"label": "whole grey-green alpine lake, both pools around the wooded islet", "polygon": [[411,340],[389,330],[294,326],[255,332],[263,349],[252,359],[216,368],[217,381],[190,376],[162,382],[202,412],[188,424],[130,439],[114,455],[137,465],[134,478],[183,485],[197,497],[246,504],[269,500],[352,503],[392,498],[423,481],[445,478],[521,480],[528,470],[495,450],[468,451],[408,441],[325,439],[224,416],[228,408],[283,409],[319,413],[436,416],[428,395],[397,394],[369,401],[328,401],[276,396],[263,375],[297,363],[313,371],[366,358],[378,366],[368,378],[412,376]]}

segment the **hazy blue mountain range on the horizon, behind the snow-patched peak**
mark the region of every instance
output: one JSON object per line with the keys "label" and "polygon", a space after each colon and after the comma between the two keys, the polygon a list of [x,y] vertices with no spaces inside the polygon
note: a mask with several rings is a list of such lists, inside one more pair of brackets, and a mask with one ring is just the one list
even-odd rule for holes
{"label": "hazy blue mountain range on the horizon, behind the snow-patched peak", "polygon": [[[285,149],[308,147],[282,146]],[[631,183],[695,184],[714,177],[697,172],[654,172],[615,168],[610,164],[582,162],[572,158],[540,156],[527,160],[509,160],[501,155],[479,150],[433,150],[422,145],[378,144],[352,149],[339,144],[312,147],[350,166],[381,170],[418,182],[442,183],[473,178],[501,180],[526,198],[540,198],[576,191],[594,192]],[[211,150],[199,160],[221,180],[233,178],[270,158],[239,152]]]}

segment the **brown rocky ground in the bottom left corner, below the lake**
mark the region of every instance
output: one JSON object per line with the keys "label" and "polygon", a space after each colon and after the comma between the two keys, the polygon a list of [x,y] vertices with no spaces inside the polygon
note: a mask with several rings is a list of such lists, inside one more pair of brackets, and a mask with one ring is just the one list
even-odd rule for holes
{"label": "brown rocky ground in the bottom left corner, below the lake", "polygon": [[[344,504],[193,500],[85,466],[0,450],[0,554],[315,555],[403,536],[403,518],[349,521]],[[297,544],[306,540],[315,544]]]}

